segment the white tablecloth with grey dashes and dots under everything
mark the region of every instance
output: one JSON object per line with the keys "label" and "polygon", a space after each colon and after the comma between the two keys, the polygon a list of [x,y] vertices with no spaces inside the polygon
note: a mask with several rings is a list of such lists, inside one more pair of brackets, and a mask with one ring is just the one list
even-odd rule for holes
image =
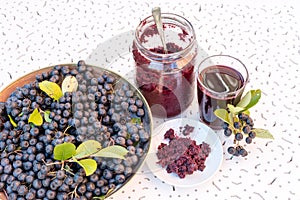
{"label": "white tablecloth with grey dashes and dots under everything", "polygon": [[[300,8],[296,1],[1,1],[0,90],[49,65],[80,59],[133,78],[133,30],[160,6],[187,18],[199,58],[229,54],[260,88],[255,125],[274,140],[255,139],[246,158],[224,153],[220,170],[197,187],[173,187],[143,166],[109,199],[300,199]],[[130,79],[132,80],[132,79]],[[198,119],[197,104],[181,116]],[[154,128],[162,119],[154,119]],[[222,133],[218,133],[221,137]],[[223,142],[223,141],[222,141]],[[224,150],[227,144],[223,145]]]}

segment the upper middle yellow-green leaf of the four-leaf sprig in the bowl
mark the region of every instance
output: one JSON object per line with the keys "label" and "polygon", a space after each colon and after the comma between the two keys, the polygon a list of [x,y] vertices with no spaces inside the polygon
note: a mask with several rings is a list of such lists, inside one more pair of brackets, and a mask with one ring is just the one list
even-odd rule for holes
{"label": "upper middle yellow-green leaf of the four-leaf sprig in the bowl", "polygon": [[101,149],[101,144],[96,140],[82,142],[76,149],[75,158],[80,159],[92,155]]}

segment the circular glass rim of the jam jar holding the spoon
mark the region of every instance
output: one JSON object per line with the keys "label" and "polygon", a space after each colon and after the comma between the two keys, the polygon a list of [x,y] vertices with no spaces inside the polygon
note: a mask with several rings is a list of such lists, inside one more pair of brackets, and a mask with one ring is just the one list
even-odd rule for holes
{"label": "circular glass rim of the jam jar holding the spoon", "polygon": [[[169,20],[179,22],[182,25],[188,25],[187,30],[189,30],[189,33],[191,33],[192,37],[191,37],[191,40],[190,40],[189,44],[185,48],[183,48],[180,51],[174,52],[174,53],[162,54],[162,53],[156,53],[156,52],[153,52],[153,51],[149,51],[149,49],[147,49],[144,45],[142,45],[141,42],[140,42],[140,38],[139,38],[139,30],[140,30],[139,28],[143,27],[147,23],[154,22],[154,19],[153,19],[152,16],[148,16],[145,19],[141,20],[141,22],[139,23],[139,25],[135,29],[135,41],[137,41],[137,45],[141,50],[143,50],[144,52],[147,52],[147,53],[149,53],[153,56],[157,56],[157,57],[160,57],[162,59],[164,59],[164,58],[169,58],[169,59],[170,58],[171,59],[172,58],[178,58],[179,56],[181,56],[186,51],[189,51],[189,49],[191,49],[193,47],[193,45],[195,44],[195,42],[196,42],[196,34],[195,34],[195,30],[193,28],[193,25],[186,18],[184,18],[180,15],[174,14],[174,13],[161,13],[161,19],[162,20],[163,19],[169,19]],[[180,20],[182,20],[183,22],[180,21]],[[186,24],[183,24],[183,23],[186,23]]]}

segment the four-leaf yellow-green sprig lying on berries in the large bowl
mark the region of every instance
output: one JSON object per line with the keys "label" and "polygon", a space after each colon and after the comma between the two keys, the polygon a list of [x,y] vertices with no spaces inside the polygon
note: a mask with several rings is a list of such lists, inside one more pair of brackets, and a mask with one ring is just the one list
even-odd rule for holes
{"label": "four-leaf yellow-green sprig lying on berries in the large bowl", "polygon": [[[128,150],[119,145],[102,148],[96,140],[82,142],[77,148],[73,143],[65,142],[54,147],[54,159],[65,162],[76,162],[85,171],[86,176],[92,175],[97,169],[97,162],[93,157],[107,157],[125,159]],[[57,164],[57,163],[54,163]]]}

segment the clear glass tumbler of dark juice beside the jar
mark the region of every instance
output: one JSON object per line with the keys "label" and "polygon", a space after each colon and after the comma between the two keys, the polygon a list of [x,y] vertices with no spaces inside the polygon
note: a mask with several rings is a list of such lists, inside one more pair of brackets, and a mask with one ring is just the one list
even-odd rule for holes
{"label": "clear glass tumbler of dark juice beside the jar", "polygon": [[197,94],[200,120],[218,130],[223,122],[214,111],[236,105],[248,82],[246,66],[229,55],[213,55],[204,59],[198,67]]}

